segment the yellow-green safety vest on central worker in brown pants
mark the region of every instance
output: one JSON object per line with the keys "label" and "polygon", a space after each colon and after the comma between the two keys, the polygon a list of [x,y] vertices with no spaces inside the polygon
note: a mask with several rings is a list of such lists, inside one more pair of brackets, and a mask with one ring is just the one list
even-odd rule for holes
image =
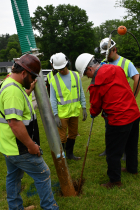
{"label": "yellow-green safety vest on central worker in brown pants", "polygon": [[51,80],[56,93],[59,118],[78,117],[80,115],[80,77],[77,72],[70,71],[71,91],[66,87],[61,76],[56,74]]}

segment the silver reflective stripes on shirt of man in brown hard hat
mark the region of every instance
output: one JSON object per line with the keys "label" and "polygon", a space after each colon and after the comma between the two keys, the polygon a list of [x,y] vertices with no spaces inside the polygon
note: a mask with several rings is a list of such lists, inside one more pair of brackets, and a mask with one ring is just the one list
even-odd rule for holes
{"label": "silver reflective stripes on shirt of man in brown hard hat", "polygon": [[[11,82],[11,83],[8,83],[7,85],[5,85],[5,86],[0,90],[0,94],[2,93],[2,91],[3,91],[5,88],[7,88],[7,87],[9,87],[9,86],[11,86],[11,85],[14,85],[14,86],[16,86],[16,87],[18,87],[18,88],[20,89],[20,87],[19,87],[17,84],[15,84],[14,82]],[[20,90],[21,90],[21,89],[20,89]],[[26,101],[27,101],[27,104],[28,104],[28,107],[29,107],[29,110],[30,110],[30,113],[31,113],[31,119],[30,119],[30,120],[23,120],[22,122],[23,122],[24,125],[29,125],[30,122],[33,121],[32,107],[31,107],[31,104],[30,104],[30,102],[29,102],[27,96],[25,95],[25,93],[24,93],[22,90],[21,90],[21,92],[23,93],[23,95],[24,95],[24,97],[25,97],[25,99],[26,99]],[[13,113],[15,113],[15,114],[17,114],[17,115],[19,115],[19,116],[22,116],[22,114],[23,114],[23,112],[22,112],[21,110],[15,109],[15,108],[6,109],[6,110],[4,110],[4,113],[5,113],[5,114],[13,114]],[[34,114],[34,119],[36,119],[36,114]],[[8,122],[7,122],[4,118],[0,118],[0,123],[8,123]]]}

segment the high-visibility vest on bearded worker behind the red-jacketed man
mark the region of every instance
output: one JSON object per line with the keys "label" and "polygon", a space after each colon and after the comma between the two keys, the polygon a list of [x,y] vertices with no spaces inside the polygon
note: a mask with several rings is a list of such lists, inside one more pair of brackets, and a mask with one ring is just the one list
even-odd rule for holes
{"label": "high-visibility vest on bearded worker behind the red-jacketed man", "polygon": [[[117,66],[122,67],[122,69],[124,70],[124,73],[126,75],[126,79],[127,79],[128,82],[130,82],[130,77],[128,76],[128,66],[129,66],[129,63],[130,63],[130,60],[128,60],[126,58],[123,58],[123,57],[121,57],[120,60],[119,60],[119,62],[117,63]],[[108,64],[109,64],[109,62],[108,62]]]}

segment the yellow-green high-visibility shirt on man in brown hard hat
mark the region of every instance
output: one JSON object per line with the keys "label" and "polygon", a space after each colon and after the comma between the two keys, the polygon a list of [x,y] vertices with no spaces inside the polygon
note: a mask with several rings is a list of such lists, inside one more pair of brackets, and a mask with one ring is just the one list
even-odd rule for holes
{"label": "yellow-green high-visibility shirt on man in brown hard hat", "polygon": [[[18,103],[15,103],[15,100],[13,100],[11,103],[3,106],[4,95],[6,94],[7,98],[9,95],[10,98],[11,92],[15,93]],[[0,130],[2,130],[0,132],[0,152],[5,155],[28,153],[28,148],[12,132],[7,122],[7,116],[10,116],[8,119],[13,118],[22,121],[29,136],[40,145],[37,119],[33,105],[22,85],[11,78],[7,78],[0,89]]]}

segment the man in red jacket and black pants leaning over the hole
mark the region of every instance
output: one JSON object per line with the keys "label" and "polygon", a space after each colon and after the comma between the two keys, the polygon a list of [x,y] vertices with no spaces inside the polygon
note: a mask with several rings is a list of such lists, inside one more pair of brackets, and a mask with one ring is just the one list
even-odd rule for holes
{"label": "man in red jacket and black pants leaning over the hole", "polygon": [[[111,64],[100,65],[94,55],[83,53],[75,62],[81,76],[92,78],[90,114],[108,119],[106,128],[106,153],[110,181],[101,186],[120,187],[121,171],[137,174],[139,108],[127,82],[123,69]],[[126,152],[126,168],[121,169],[121,157]]]}

